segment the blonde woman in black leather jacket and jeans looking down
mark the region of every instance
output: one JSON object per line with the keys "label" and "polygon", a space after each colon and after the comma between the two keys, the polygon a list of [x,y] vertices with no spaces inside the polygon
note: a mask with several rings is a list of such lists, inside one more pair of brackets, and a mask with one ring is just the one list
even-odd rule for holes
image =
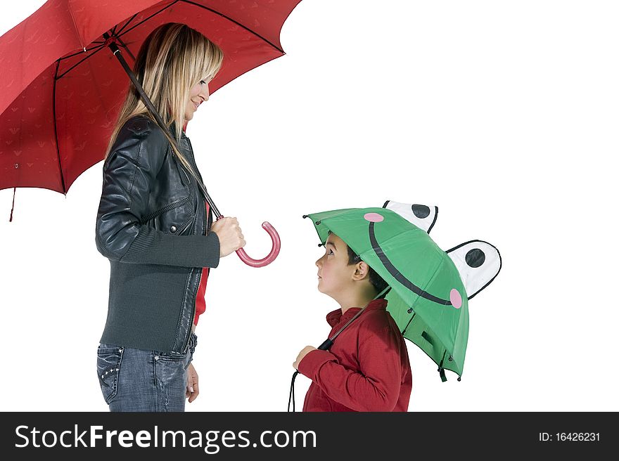
{"label": "blonde woman in black leather jacket and jeans looking down", "polygon": [[208,268],[245,245],[236,218],[212,223],[182,130],[208,100],[222,60],[217,45],[186,25],[153,30],[134,72],[168,129],[131,84],[110,138],[96,245],[110,259],[97,371],[112,411],[183,411],[185,398],[198,396],[191,359]]}

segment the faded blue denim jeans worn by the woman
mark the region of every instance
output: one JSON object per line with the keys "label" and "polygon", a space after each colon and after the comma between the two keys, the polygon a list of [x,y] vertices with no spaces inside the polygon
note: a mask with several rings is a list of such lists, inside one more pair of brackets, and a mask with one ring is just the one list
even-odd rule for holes
{"label": "faded blue denim jeans worn by the woman", "polygon": [[186,354],[99,344],[97,375],[110,411],[184,411],[187,367],[198,337]]}

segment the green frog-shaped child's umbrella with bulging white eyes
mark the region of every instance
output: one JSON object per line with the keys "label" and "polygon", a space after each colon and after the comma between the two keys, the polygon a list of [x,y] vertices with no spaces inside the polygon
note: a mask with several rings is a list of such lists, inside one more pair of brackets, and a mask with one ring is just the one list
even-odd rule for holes
{"label": "green frog-shaped child's umbrella with bulging white eyes", "polygon": [[391,290],[387,310],[405,338],[444,370],[464,368],[468,341],[468,299],[494,280],[499,251],[471,240],[443,251],[430,238],[438,207],[387,201],[382,208],[338,209],[308,214],[324,245],[338,235],[381,275]]}

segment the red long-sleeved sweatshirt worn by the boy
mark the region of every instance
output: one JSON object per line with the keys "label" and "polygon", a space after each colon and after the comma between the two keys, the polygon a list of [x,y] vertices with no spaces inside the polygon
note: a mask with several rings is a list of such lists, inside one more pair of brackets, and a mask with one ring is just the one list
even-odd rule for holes
{"label": "red long-sleeved sweatshirt worn by the boy", "polygon": [[[385,299],[374,299],[334,340],[329,351],[311,351],[299,372],[312,379],[303,411],[408,411],[411,366],[404,337]],[[361,308],[326,316],[328,337]]]}

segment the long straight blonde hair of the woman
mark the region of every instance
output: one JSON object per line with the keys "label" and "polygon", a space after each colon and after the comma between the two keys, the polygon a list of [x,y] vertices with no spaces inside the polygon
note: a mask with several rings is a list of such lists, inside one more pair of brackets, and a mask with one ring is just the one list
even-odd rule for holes
{"label": "long straight blonde hair of the woman", "polygon": [[[177,149],[177,143],[172,142],[170,126],[174,123],[175,137],[180,140],[189,91],[205,77],[215,77],[223,60],[222,49],[203,34],[187,25],[168,22],[148,35],[134,65],[136,79],[165,123],[167,129],[163,133],[170,141],[174,154],[194,177],[196,174],[189,162]],[[127,98],[120,108],[104,160],[110,154],[122,126],[136,115],[144,115],[157,123],[133,82],[129,82]]]}

